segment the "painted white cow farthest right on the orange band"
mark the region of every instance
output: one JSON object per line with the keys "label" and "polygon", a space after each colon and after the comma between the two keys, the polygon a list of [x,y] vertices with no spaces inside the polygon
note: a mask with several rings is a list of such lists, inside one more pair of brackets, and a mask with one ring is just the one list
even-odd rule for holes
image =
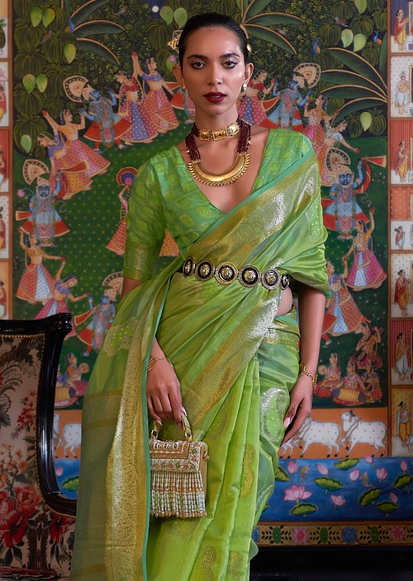
{"label": "painted white cow farthest right on the orange band", "polygon": [[343,420],[344,433],[341,444],[348,450],[346,458],[350,456],[355,444],[369,444],[369,446],[374,446],[375,451],[372,456],[378,453],[380,447],[383,449],[381,455],[384,455],[387,443],[386,424],[383,424],[383,422],[362,422],[353,411],[346,411],[346,413],[340,415],[340,418]]}

